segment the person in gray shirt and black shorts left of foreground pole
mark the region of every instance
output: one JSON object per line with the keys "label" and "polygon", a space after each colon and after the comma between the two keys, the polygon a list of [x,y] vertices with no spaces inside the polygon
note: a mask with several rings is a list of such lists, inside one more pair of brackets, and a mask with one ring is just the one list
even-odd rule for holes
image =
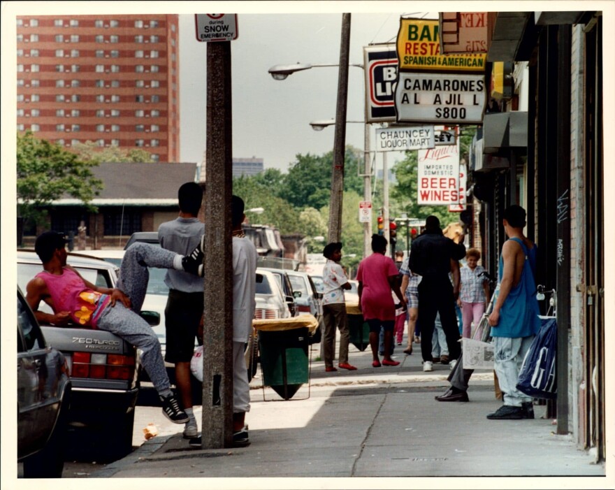
{"label": "person in gray shirt and black shorts left of foreground pole", "polygon": [[[194,250],[203,236],[203,222],[198,212],[203,203],[203,189],[196,182],[186,182],[178,190],[179,216],[158,228],[161,247],[178,254]],[[203,326],[203,279],[184,271],[166,271],[164,283],[168,298],[164,309],[166,352],[164,359],[175,364],[175,380],[180,402],[190,417],[184,427],[184,438],[196,438],[198,426],[192,410],[190,361],[194,340]]]}

